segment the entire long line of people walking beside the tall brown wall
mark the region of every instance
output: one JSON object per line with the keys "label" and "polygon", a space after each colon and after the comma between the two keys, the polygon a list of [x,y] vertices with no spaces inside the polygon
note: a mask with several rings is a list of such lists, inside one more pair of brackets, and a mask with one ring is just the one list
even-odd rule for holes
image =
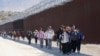
{"label": "entire long line of people walking beside the tall brown wall", "polygon": [[[25,35],[23,31],[13,31],[13,34],[11,33],[12,32],[9,32],[9,35],[11,37],[14,36],[14,40],[16,36],[21,36],[24,40]],[[6,35],[5,32],[4,35]],[[62,25],[57,31],[54,31],[52,26],[49,26],[46,31],[43,31],[43,29],[40,28],[39,30],[35,29],[33,32],[27,31],[26,33],[29,44],[31,44],[31,39],[33,37],[35,39],[35,44],[37,44],[37,41],[39,40],[40,47],[43,48],[43,44],[45,44],[45,47],[48,49],[52,49],[52,40],[54,36],[57,39],[57,46],[59,47],[60,52],[64,55],[76,52],[76,50],[80,53],[81,41],[84,39],[84,35],[75,25]]]}

